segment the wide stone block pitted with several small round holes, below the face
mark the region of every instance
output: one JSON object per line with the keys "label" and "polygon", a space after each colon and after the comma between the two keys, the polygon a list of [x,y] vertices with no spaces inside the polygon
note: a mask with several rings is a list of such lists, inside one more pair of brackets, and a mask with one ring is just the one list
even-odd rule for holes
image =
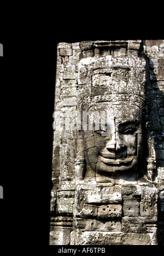
{"label": "wide stone block pitted with several small round holes, below the face", "polygon": [[104,218],[121,218],[122,206],[121,205],[101,205],[98,207],[97,217]]}

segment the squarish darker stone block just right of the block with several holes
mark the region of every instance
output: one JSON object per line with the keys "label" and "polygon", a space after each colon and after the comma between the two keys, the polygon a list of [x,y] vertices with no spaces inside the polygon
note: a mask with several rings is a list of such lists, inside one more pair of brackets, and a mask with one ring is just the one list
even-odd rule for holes
{"label": "squarish darker stone block just right of the block with several holes", "polygon": [[125,200],[123,205],[123,212],[124,216],[126,217],[140,216],[140,203],[134,200]]}

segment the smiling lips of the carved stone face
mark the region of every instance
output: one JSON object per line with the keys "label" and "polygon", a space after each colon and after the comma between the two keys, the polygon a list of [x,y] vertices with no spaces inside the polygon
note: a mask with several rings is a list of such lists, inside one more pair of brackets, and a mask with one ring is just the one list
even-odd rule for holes
{"label": "smiling lips of the carved stone face", "polygon": [[133,161],[134,156],[127,157],[126,159],[104,158],[99,155],[99,159],[107,165],[128,165]]}

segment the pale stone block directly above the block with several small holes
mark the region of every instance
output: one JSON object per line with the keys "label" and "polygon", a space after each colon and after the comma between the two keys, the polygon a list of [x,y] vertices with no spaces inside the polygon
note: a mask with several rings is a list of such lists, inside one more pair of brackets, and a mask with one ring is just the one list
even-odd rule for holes
{"label": "pale stone block directly above the block with several small holes", "polygon": [[121,186],[115,185],[114,187],[107,187],[102,189],[102,202],[103,203],[113,203],[121,202]]}

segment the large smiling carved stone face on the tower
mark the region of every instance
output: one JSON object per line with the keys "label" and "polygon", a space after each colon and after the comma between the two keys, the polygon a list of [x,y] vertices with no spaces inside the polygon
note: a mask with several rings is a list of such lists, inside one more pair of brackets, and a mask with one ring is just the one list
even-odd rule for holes
{"label": "large smiling carved stone face on the tower", "polygon": [[136,172],[142,143],[139,107],[101,102],[95,104],[95,110],[107,113],[106,127],[93,131],[95,148],[85,151],[88,164],[96,162],[99,174]]}

